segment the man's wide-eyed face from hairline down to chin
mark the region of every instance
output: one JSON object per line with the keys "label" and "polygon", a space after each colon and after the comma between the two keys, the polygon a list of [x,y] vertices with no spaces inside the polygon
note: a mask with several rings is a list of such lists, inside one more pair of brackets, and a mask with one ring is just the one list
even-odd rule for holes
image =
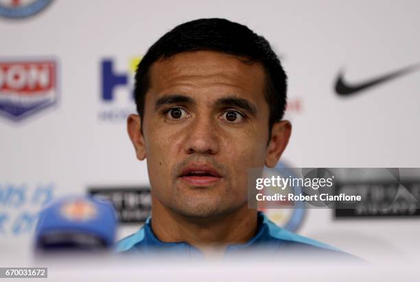
{"label": "man's wide-eyed face from hairline down to chin", "polygon": [[248,168],[264,166],[272,147],[264,89],[263,66],[234,55],[186,52],[152,65],[143,136],[137,116],[128,130],[154,202],[196,218],[246,206]]}

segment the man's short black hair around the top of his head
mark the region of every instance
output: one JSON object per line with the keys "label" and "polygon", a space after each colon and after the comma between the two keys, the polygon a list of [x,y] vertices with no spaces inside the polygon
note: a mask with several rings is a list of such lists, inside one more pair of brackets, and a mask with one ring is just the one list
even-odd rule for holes
{"label": "man's short black hair around the top of his head", "polygon": [[269,136],[272,125],[283,118],[286,103],[287,76],[279,57],[263,36],[245,25],[224,18],[200,18],[178,25],[157,40],[137,66],[135,101],[143,120],[145,94],[150,87],[149,69],[152,64],[172,55],[188,51],[217,51],[246,58],[247,63],[259,62],[266,71],[264,96],[270,109]]}

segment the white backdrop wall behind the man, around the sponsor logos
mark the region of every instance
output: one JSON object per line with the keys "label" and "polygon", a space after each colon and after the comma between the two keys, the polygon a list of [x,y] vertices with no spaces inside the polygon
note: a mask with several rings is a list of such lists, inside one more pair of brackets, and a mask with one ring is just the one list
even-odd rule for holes
{"label": "white backdrop wall behind the man, around the sponsor logos", "polygon": [[[420,70],[339,97],[339,71],[358,83],[420,62],[419,1],[54,1],[21,20],[0,18],[0,61],[58,62],[58,102],[15,122],[0,116],[0,257],[30,253],[36,193],[86,194],[91,185],[148,185],[121,113],[133,58],[172,27],[222,17],[265,36],[289,76],[293,133],[283,159],[300,167],[420,167]],[[102,99],[102,62],[127,75]],[[19,204],[5,191],[21,188]],[[23,191],[23,192],[22,192]],[[41,193],[42,194],[42,193]],[[10,200],[10,199],[9,199]],[[16,200],[17,201],[17,200]],[[138,227],[123,227],[119,238]],[[309,210],[299,233],[366,259],[417,257],[418,218],[337,220]]]}

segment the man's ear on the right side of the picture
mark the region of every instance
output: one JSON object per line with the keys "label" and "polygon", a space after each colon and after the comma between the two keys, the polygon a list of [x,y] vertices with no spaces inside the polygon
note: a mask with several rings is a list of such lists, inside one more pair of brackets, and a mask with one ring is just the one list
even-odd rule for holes
{"label": "man's ear on the right side of the picture", "polygon": [[281,120],[272,126],[265,163],[268,168],[274,167],[279,162],[281,154],[288,146],[291,133],[292,124],[289,120]]}

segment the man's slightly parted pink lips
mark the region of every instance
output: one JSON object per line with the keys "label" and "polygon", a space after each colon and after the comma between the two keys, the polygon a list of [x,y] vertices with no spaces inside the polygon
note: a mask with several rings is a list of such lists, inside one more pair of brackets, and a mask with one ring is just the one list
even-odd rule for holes
{"label": "man's slightly parted pink lips", "polygon": [[219,181],[222,176],[207,164],[190,164],[180,173],[180,179],[194,186],[207,186]]}

